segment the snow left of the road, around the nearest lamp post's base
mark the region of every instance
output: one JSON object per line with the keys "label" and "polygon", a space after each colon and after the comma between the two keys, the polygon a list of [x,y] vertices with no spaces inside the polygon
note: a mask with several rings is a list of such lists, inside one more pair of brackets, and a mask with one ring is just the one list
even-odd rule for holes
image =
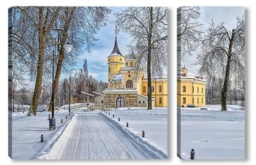
{"label": "snow left of the road, around the nearest lamp post's base", "polygon": [[[12,112],[12,159],[35,159],[42,152],[48,152],[71,120],[68,112],[56,112],[56,130],[49,131],[48,115],[50,114],[45,111],[37,112],[36,116],[28,116],[23,112]],[[41,143],[41,134],[45,139],[43,143]]]}

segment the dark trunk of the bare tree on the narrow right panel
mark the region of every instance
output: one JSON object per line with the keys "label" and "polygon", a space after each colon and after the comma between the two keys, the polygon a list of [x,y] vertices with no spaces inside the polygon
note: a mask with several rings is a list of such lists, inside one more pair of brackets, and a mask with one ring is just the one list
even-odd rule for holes
{"label": "dark trunk of the bare tree on the narrow right panel", "polygon": [[234,29],[232,31],[232,36],[230,39],[230,45],[228,47],[228,54],[227,54],[227,65],[226,65],[226,73],[225,73],[225,80],[222,88],[222,111],[227,111],[227,89],[228,89],[228,82],[230,81],[230,64],[231,64],[231,57],[232,57],[232,47],[234,41]]}

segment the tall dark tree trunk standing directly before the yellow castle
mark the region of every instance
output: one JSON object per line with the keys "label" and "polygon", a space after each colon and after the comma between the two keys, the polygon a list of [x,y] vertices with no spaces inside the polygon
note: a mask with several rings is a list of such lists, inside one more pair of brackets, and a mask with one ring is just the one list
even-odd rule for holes
{"label": "tall dark tree trunk standing directly before the yellow castle", "polygon": [[[148,28],[148,110],[152,110],[152,95],[151,95],[151,39],[152,39],[152,26],[153,26],[153,7],[149,8],[149,28]],[[155,91],[156,92],[156,91]],[[156,99],[156,98],[155,98]]]}

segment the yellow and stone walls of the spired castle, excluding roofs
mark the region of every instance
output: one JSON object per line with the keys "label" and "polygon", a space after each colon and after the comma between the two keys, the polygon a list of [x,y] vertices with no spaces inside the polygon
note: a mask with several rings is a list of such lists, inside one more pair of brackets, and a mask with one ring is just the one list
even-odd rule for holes
{"label": "yellow and stone walls of the spired castle, excluding roofs", "polygon": [[[147,80],[143,80],[143,71],[140,70],[138,77],[135,77],[135,74],[137,74],[137,71],[128,69],[123,69],[125,67],[132,67],[136,66],[137,61],[135,59],[128,60],[129,55],[121,56],[121,55],[110,55],[108,56],[108,88],[127,88],[127,81],[132,80],[132,88],[136,88],[138,91],[138,94],[141,94],[143,96],[147,96],[148,92],[148,84]],[[124,58],[127,58],[127,61],[124,60]],[[113,85],[110,87],[110,82],[113,80],[113,77],[117,74],[122,74],[122,80],[121,82],[116,83],[116,85]],[[154,79],[152,80],[152,88],[154,88],[154,91],[151,93],[151,96],[154,98],[154,107],[167,107],[167,78],[166,79]],[[106,94],[105,96],[105,104],[112,105],[113,107],[116,107],[116,100],[120,93],[112,93],[112,94]],[[129,94],[128,94],[129,95]],[[144,106],[145,104],[138,105],[138,96],[128,96],[128,95],[122,95],[123,98],[126,100],[126,107],[138,107],[138,106]]]}

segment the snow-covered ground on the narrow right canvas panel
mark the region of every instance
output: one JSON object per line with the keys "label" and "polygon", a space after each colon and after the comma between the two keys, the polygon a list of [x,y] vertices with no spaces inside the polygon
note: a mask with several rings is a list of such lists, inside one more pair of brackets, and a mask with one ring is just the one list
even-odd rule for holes
{"label": "snow-covered ground on the narrow right canvas panel", "polygon": [[178,156],[189,159],[193,148],[195,159],[245,159],[245,110],[236,105],[228,105],[227,112],[220,105],[204,108],[178,109]]}

